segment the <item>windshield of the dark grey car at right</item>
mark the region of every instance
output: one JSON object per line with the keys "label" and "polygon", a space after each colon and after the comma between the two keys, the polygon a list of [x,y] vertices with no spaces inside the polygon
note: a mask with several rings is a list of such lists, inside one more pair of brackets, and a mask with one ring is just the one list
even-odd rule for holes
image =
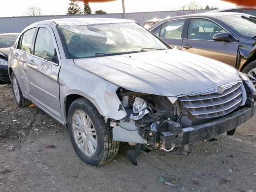
{"label": "windshield of the dark grey car at right", "polygon": [[248,15],[228,15],[220,17],[224,23],[232,27],[241,35],[247,37],[256,36],[256,20],[249,18]]}

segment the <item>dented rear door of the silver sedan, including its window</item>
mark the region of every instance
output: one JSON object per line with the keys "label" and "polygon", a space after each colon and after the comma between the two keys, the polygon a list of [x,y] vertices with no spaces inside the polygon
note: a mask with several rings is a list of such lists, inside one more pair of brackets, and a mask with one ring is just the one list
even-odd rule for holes
{"label": "dented rear door of the silver sedan, including its window", "polygon": [[28,57],[32,52],[32,43],[36,28],[31,28],[24,32],[17,43],[16,48],[13,51],[13,64],[12,70],[16,75],[18,84],[24,96],[28,96],[29,82],[28,82]]}

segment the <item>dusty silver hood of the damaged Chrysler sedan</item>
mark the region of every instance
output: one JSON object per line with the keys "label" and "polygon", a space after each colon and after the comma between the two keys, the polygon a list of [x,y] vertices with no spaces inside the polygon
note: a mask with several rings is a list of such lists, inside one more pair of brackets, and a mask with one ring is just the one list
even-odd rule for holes
{"label": "dusty silver hood of the damaged Chrysler sedan", "polygon": [[238,71],[227,64],[177,49],[74,59],[74,63],[125,89],[162,96],[240,80]]}

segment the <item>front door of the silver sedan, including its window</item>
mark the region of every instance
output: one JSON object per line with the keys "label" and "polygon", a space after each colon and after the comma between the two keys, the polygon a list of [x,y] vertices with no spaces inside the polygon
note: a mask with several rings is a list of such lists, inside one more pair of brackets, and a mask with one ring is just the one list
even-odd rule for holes
{"label": "front door of the silver sedan, including its window", "polygon": [[52,28],[38,25],[33,53],[28,58],[30,96],[38,106],[61,120],[58,73],[58,46]]}

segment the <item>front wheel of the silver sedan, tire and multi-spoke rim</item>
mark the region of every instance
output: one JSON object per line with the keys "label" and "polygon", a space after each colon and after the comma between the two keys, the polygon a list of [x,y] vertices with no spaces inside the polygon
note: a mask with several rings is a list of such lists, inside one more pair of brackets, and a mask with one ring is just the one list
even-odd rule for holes
{"label": "front wheel of the silver sedan, tire and multi-spoke rim", "polygon": [[118,152],[119,142],[113,140],[112,128],[85,98],[70,105],[68,132],[76,154],[86,164],[100,166],[113,160]]}

